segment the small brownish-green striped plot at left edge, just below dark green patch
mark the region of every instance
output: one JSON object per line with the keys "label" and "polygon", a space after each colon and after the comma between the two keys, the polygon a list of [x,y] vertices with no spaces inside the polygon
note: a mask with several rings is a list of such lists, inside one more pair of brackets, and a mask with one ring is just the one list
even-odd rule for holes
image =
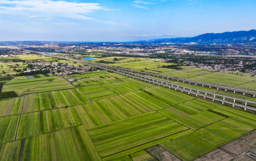
{"label": "small brownish-green striped plot at left edge, just below dark green patch", "polygon": [[0,117],[20,114],[24,97],[0,101]]}

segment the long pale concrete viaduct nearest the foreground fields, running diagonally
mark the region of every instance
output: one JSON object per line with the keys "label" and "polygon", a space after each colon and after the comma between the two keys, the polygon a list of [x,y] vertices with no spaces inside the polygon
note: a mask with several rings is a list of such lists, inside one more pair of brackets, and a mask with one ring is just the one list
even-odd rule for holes
{"label": "long pale concrete viaduct nearest the foreground fields, running diagonally", "polygon": [[[42,54],[42,53],[40,53]],[[114,72],[114,73],[118,73],[120,75],[125,75],[127,77],[131,77],[133,79],[138,79],[140,81],[144,81],[144,82],[149,82],[151,84],[155,84],[157,86],[163,86],[164,88],[169,88],[169,89],[173,89],[175,91],[180,91],[182,93],[188,93],[189,95],[194,95],[196,97],[200,96],[201,98],[204,99],[208,99],[208,100],[212,100],[217,101],[217,102],[221,102],[222,104],[228,104],[231,105],[232,107],[240,107],[242,109],[244,109],[244,111],[246,111],[246,109],[249,109],[251,111],[256,112],[256,102],[250,101],[250,100],[244,100],[241,98],[236,98],[236,97],[232,97],[232,96],[227,96],[227,95],[221,95],[218,93],[212,93],[210,91],[204,91],[202,89],[196,89],[196,88],[191,88],[188,86],[182,86],[180,84],[175,84],[173,82],[168,82],[168,81],[163,81],[163,80],[159,80],[156,79],[154,77],[156,77],[156,75],[153,75],[154,77],[147,77],[145,75],[140,75],[138,73],[140,72],[134,72],[134,70],[129,70],[129,69],[125,69],[125,68],[118,68],[115,66],[108,66],[108,65],[101,65],[99,63],[92,63],[92,62],[88,62],[88,61],[83,61],[83,60],[79,60],[79,59],[72,59],[70,57],[62,57],[62,56],[55,56],[55,55],[49,55],[49,54],[43,54],[45,56],[51,56],[51,57],[58,57],[60,59],[68,59],[70,61],[76,61],[78,63],[83,63],[85,65],[91,65],[94,66],[96,68],[100,68],[102,70],[106,70],[108,72]],[[125,69],[125,70],[124,70]],[[164,76],[165,77],[165,76]],[[204,85],[204,84],[203,84]],[[217,86],[217,85],[216,85]],[[212,86],[209,86],[210,88]],[[224,86],[223,86],[224,88]],[[217,88],[220,89],[220,88]],[[233,90],[234,88],[232,88]],[[241,89],[243,90],[243,89]],[[237,91],[235,91],[234,93],[236,93]],[[255,91],[253,91],[255,93]],[[248,93],[246,93],[248,94]],[[245,91],[244,91],[244,95],[245,95]],[[256,94],[253,94],[253,96],[255,96]]]}

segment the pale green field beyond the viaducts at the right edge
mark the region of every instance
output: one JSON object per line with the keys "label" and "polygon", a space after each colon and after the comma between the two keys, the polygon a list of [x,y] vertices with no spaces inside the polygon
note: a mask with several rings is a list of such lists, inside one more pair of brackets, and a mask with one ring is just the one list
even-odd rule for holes
{"label": "pale green field beyond the viaducts at the right edge", "polygon": [[[218,79],[216,79],[218,78]],[[218,84],[223,86],[239,86],[240,84],[250,82],[255,80],[255,78],[251,77],[250,75],[236,75],[231,73],[221,73],[221,72],[214,72],[208,73],[205,75],[200,75],[191,78],[193,81],[201,81],[201,82],[209,82],[212,84]],[[241,88],[246,89],[246,87],[241,86]]]}

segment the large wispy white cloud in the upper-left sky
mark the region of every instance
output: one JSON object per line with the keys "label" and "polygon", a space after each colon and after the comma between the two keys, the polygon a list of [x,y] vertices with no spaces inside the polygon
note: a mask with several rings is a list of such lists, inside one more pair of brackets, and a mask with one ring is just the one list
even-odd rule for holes
{"label": "large wispy white cloud in the upper-left sky", "polygon": [[88,17],[97,10],[108,11],[99,3],[69,3],[51,0],[0,0],[1,15],[26,16],[30,18],[63,17],[81,20],[95,20]]}

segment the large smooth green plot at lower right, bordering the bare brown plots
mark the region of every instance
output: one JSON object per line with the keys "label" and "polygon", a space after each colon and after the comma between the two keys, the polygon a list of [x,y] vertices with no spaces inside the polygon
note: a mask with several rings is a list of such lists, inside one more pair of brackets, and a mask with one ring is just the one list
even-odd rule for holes
{"label": "large smooth green plot at lower right, bordering the bare brown plots", "polygon": [[193,160],[255,128],[251,123],[227,118],[160,145],[182,160]]}

